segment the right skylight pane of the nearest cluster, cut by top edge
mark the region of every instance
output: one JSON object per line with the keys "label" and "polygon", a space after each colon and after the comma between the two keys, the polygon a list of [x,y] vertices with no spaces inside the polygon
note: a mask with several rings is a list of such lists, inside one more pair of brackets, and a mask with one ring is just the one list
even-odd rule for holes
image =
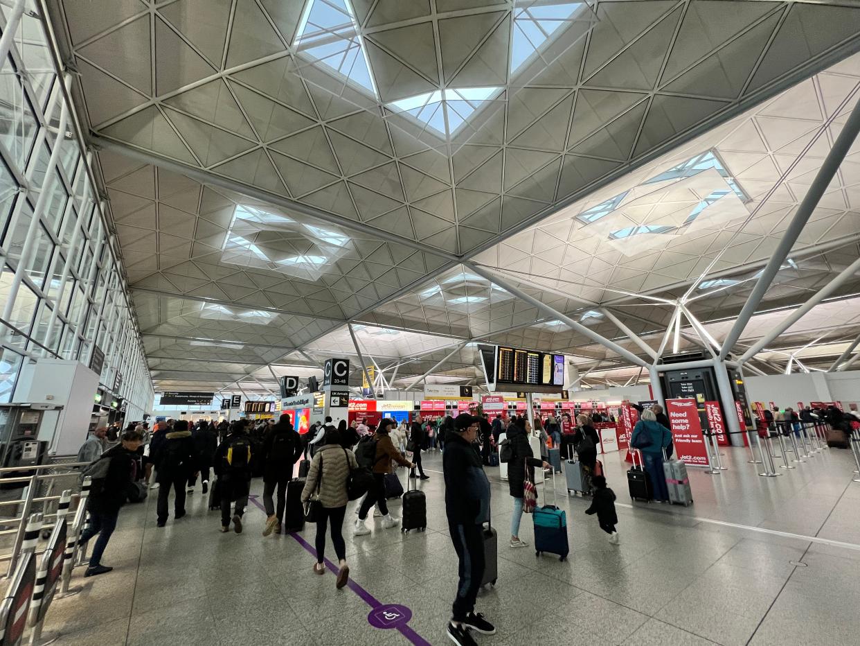
{"label": "right skylight pane of the nearest cluster, cut by top edge", "polygon": [[518,3],[513,9],[513,41],[511,73],[536,57],[550,38],[571,23],[571,18],[584,3],[570,0]]}

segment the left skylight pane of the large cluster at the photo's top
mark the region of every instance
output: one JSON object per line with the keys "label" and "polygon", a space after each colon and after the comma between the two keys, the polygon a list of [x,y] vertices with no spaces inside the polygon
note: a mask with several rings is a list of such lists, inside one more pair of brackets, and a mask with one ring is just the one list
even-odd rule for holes
{"label": "left skylight pane of the large cluster at the photo's top", "polygon": [[377,96],[358,24],[347,0],[310,0],[298,23],[296,47]]}

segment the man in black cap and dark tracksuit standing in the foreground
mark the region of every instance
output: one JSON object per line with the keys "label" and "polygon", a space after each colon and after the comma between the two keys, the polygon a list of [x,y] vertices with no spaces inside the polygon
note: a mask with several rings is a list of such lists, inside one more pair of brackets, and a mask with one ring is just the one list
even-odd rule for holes
{"label": "man in black cap and dark tracksuit standing in the foreground", "polygon": [[495,634],[494,625],[475,612],[485,567],[483,524],[489,520],[490,496],[489,481],[474,446],[480,428],[480,418],[459,414],[454,420],[454,431],[445,438],[442,452],[445,513],[459,561],[457,598],[448,622],[448,637],[458,646],[474,646],[470,630]]}

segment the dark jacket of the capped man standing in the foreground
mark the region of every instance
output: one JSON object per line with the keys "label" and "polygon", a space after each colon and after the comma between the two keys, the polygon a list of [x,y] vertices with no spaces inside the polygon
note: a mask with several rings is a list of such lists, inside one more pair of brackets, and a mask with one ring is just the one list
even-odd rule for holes
{"label": "dark jacket of the capped man standing in the foreground", "polygon": [[442,451],[445,514],[449,525],[482,525],[489,520],[490,488],[481,455],[458,432],[449,432]]}

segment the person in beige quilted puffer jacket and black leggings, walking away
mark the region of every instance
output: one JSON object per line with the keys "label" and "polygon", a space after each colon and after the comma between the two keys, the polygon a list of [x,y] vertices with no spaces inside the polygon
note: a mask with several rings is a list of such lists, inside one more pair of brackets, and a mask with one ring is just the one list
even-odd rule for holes
{"label": "person in beige quilted puffer jacket and black leggings, walking away", "polygon": [[335,545],[338,573],[335,587],[349,581],[347,544],[343,540],[343,519],[347,513],[347,481],[352,469],[358,468],[355,456],[341,446],[341,433],[334,428],[326,431],[322,446],[310,462],[307,480],[302,490],[302,502],[316,499],[316,563],[314,572],[325,574],[326,525],[331,526],[331,542]]}

